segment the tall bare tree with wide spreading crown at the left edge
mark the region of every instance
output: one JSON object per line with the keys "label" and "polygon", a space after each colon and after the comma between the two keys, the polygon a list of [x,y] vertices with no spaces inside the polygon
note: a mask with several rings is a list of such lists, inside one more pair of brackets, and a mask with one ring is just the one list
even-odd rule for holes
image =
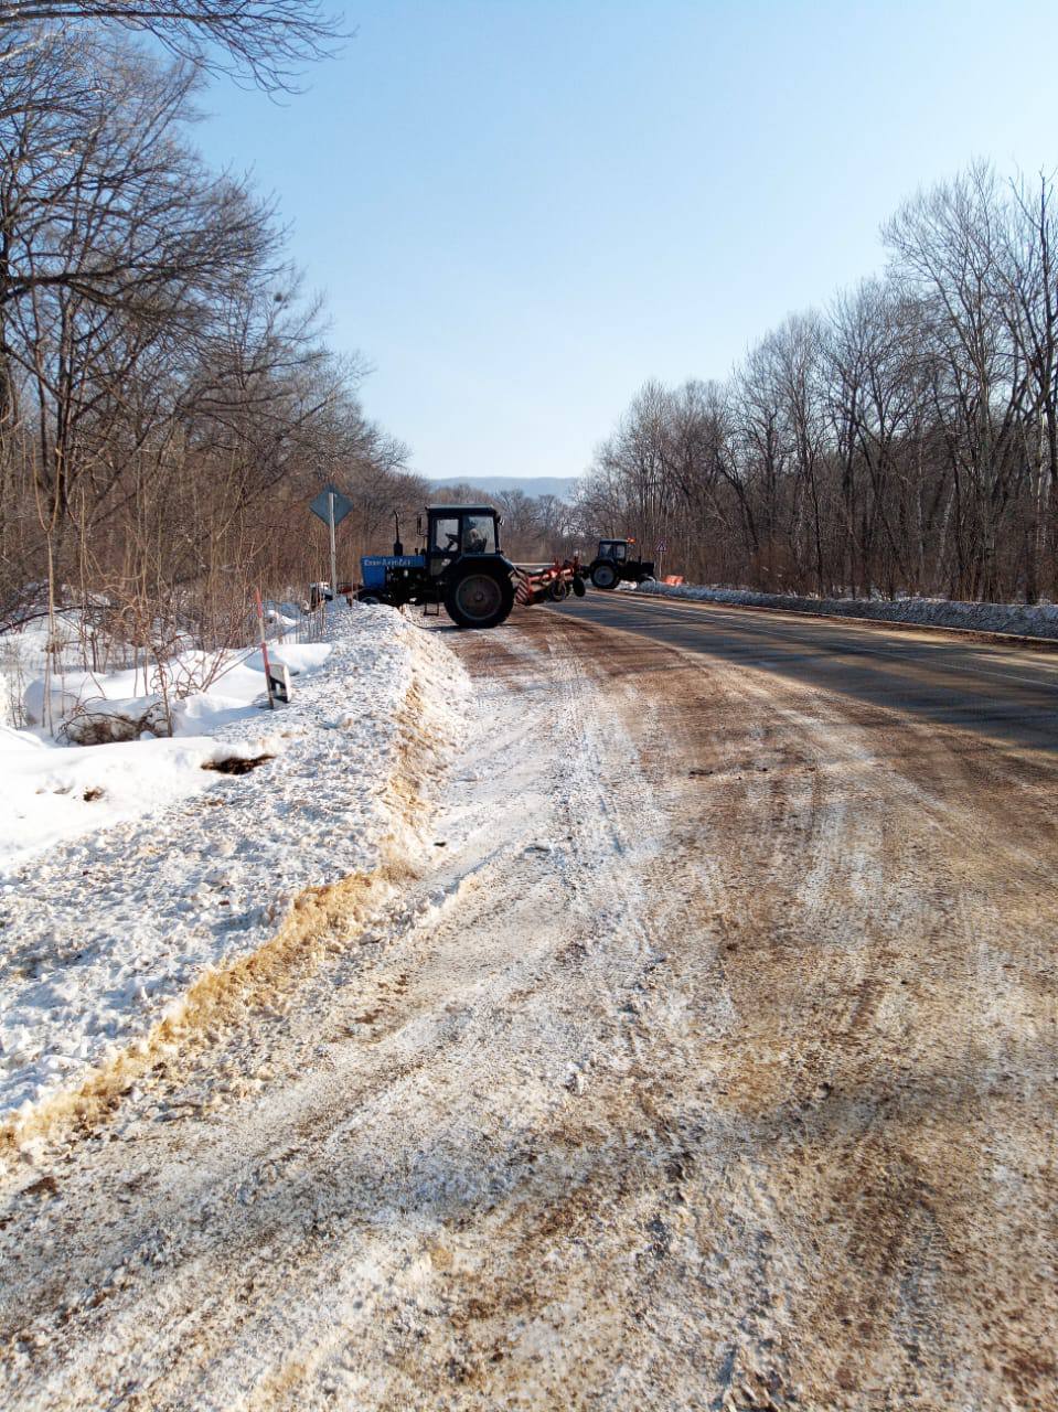
{"label": "tall bare tree with wide spreading crown at the left edge", "polygon": [[0,330],[8,385],[17,376],[35,402],[54,537],[82,474],[97,498],[109,489],[97,445],[137,366],[201,343],[233,291],[267,278],[277,237],[244,184],[212,176],[178,140],[188,69],[102,42],[51,48],[68,61],[51,89],[0,124]]}

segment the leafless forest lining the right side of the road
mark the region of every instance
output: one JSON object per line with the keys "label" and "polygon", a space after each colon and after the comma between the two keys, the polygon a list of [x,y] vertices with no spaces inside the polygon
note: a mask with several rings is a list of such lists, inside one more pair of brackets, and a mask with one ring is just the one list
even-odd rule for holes
{"label": "leafless forest lining the right side of the road", "polygon": [[884,274],[787,318],[720,380],[647,383],[586,522],[698,583],[1052,599],[1058,229],[1050,175],[985,164],[886,223]]}

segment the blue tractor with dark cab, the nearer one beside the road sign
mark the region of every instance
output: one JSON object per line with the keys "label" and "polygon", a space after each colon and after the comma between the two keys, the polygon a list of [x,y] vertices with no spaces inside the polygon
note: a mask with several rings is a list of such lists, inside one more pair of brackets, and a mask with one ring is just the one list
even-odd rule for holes
{"label": "blue tractor with dark cab, the nearer one beside the road sign", "polygon": [[[396,520],[396,515],[394,515]],[[422,548],[404,554],[400,525],[393,554],[360,559],[360,603],[444,603],[456,627],[497,627],[514,607],[521,570],[500,552],[500,515],[492,505],[428,505],[420,517]]]}

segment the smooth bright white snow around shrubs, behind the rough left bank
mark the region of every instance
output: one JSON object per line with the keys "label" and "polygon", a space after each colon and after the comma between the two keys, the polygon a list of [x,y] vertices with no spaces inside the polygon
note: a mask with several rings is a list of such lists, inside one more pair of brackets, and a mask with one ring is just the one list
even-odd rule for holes
{"label": "smooth bright white snow around shrubs, behind the rough left bank", "polygon": [[[329,642],[284,645],[271,655],[295,676],[319,669]],[[191,671],[195,662],[174,664]],[[157,695],[133,696],[141,672],[109,676],[68,672],[55,709],[68,713],[62,734],[81,744],[58,746],[44,731],[0,726],[0,771],[4,813],[0,818],[0,875],[57,844],[99,829],[168,808],[213,782],[203,765],[216,755],[216,731],[244,722],[250,734],[271,733],[275,717],[263,716],[264,666],[260,652],[232,654],[227,669],[205,692],[174,702],[174,740],[143,738],[144,730],[167,730]],[[31,682],[27,710],[42,709],[44,682]],[[40,719],[40,717],[38,717]],[[105,738],[109,744],[95,744]],[[263,747],[264,748],[264,747]],[[267,747],[275,753],[280,746]],[[261,751],[258,751],[261,753]]]}

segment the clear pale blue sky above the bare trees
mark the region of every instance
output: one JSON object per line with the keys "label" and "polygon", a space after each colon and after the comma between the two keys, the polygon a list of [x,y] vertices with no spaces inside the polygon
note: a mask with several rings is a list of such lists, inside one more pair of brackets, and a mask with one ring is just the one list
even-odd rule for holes
{"label": "clear pale blue sky above the bare trees", "polygon": [[579,474],[646,378],[877,270],[917,186],[1058,165],[1054,0],[345,8],[308,92],[218,83],[198,141],[275,193],[428,476]]}

